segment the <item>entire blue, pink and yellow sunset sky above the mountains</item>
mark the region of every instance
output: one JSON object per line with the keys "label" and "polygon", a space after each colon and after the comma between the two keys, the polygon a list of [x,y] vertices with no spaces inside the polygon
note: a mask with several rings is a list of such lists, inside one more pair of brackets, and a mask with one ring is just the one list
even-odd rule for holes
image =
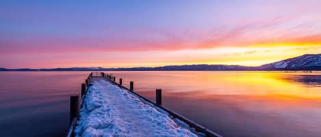
{"label": "entire blue, pink and yellow sunset sky above the mountains", "polygon": [[0,67],[258,66],[321,53],[321,1],[0,1]]}

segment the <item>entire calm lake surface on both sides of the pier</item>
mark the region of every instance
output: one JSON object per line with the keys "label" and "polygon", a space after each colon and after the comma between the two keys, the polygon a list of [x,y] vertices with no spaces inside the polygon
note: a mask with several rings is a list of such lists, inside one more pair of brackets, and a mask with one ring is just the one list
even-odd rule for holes
{"label": "entire calm lake surface on both sides of the pier", "polygon": [[[321,72],[106,72],[222,136],[321,134]],[[0,72],[2,136],[66,136],[89,72]]]}

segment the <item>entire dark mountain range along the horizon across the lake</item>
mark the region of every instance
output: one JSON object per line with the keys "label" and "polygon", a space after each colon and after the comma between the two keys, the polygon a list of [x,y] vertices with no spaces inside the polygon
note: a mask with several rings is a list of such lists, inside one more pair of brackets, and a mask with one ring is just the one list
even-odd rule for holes
{"label": "entire dark mountain range along the horizon across the lake", "polygon": [[242,65],[166,65],[164,67],[68,67],[52,69],[6,69],[0,71],[277,71],[277,70],[321,70],[321,54],[302,55],[291,59],[285,59],[274,63],[268,63],[257,67]]}

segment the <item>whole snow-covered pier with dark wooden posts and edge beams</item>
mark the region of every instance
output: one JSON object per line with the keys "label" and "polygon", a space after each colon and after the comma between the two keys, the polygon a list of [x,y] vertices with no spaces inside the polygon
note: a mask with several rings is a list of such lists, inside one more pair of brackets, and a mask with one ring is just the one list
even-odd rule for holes
{"label": "whole snow-covered pier with dark wooden posts and edge beams", "polygon": [[127,89],[121,81],[103,72],[88,76],[81,85],[80,106],[75,96],[70,98],[68,137],[220,136],[161,106],[160,90],[155,104],[133,92],[133,82]]}

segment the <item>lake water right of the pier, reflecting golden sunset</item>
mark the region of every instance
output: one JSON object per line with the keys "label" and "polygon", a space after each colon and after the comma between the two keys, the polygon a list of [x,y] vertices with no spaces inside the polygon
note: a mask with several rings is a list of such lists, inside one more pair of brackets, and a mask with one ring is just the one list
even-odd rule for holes
{"label": "lake water right of the pier, reflecting golden sunset", "polygon": [[321,72],[112,72],[222,136],[321,134]]}

